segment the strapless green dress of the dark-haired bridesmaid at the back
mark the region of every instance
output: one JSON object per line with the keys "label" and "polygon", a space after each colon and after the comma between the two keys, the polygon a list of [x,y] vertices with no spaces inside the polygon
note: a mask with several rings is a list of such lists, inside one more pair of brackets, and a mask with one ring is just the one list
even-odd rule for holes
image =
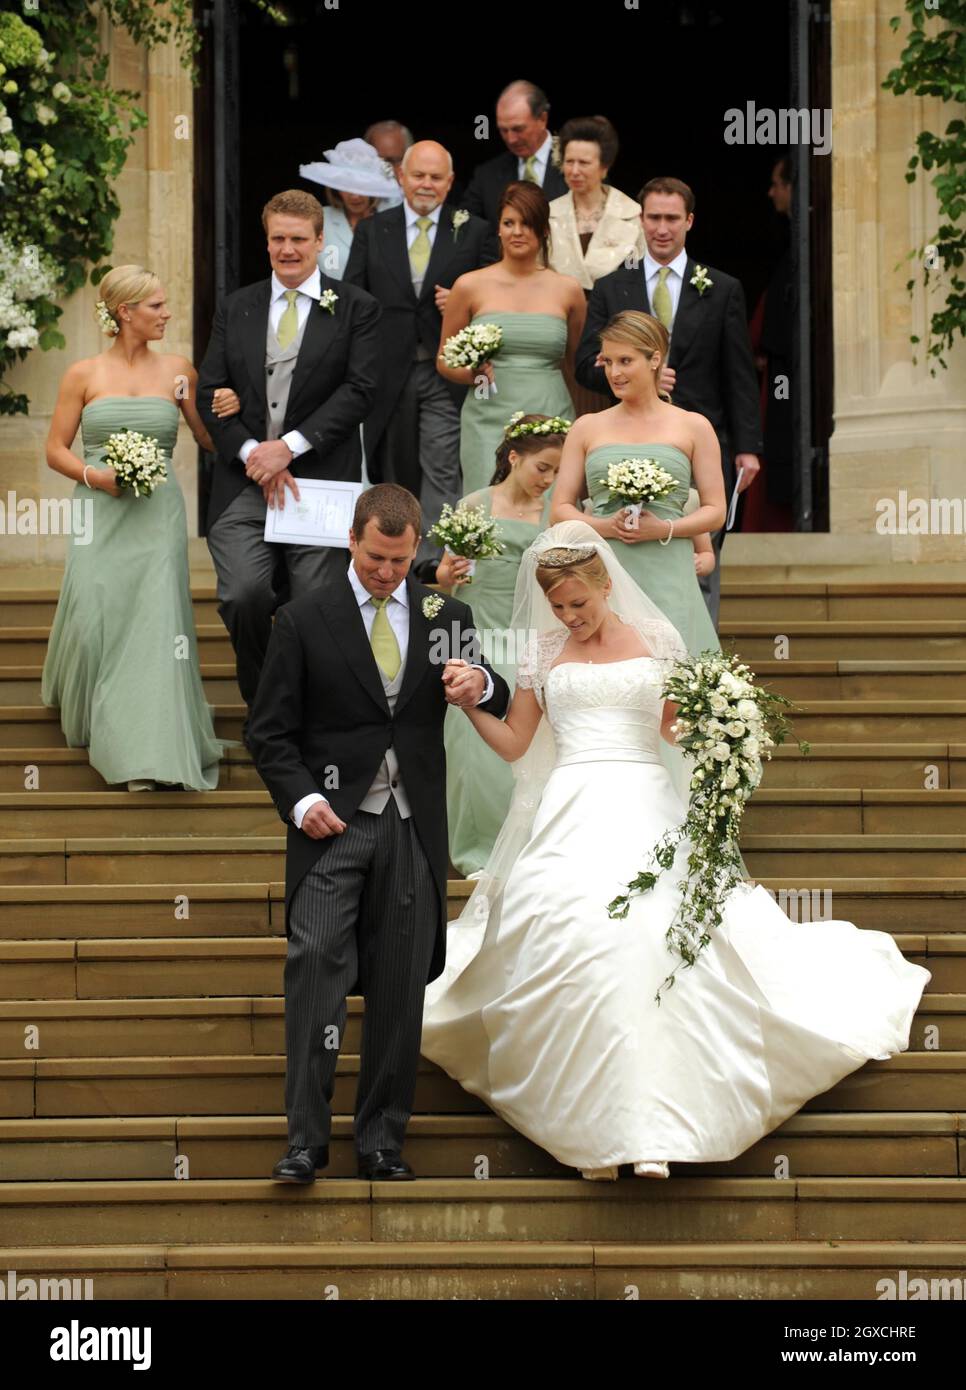
{"label": "strapless green dress of the dark-haired bridesmaid at the back", "polygon": [[496,395],[477,399],[470,386],[460,417],[463,492],[485,488],[496,468],[496,448],[516,410],[574,418],[574,403],[560,364],[567,352],[567,322],[559,314],[477,314],[474,324],[499,324],[500,350],[492,367]]}

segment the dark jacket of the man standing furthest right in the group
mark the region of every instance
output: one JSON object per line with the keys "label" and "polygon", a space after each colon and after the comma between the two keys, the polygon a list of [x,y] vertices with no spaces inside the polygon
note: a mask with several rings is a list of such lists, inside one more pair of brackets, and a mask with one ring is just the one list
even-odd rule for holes
{"label": "dark jacket of the man standing furthest right in the group", "polygon": [[[759,385],[744,291],[732,275],[707,265],[707,278],[713,284],[699,295],[691,284],[696,264],[688,256],[671,328],[667,366],[677,373],[674,404],[707,416],[721,441],[723,453],[762,453]],[[644,264],[637,270],[621,265],[610,275],[603,275],[593,286],[587,306],[587,325],[577,348],[575,374],[582,386],[606,396],[610,396],[607,378],[603,367],[595,367],[593,360],[600,350],[600,329],[625,309],[650,313]]]}

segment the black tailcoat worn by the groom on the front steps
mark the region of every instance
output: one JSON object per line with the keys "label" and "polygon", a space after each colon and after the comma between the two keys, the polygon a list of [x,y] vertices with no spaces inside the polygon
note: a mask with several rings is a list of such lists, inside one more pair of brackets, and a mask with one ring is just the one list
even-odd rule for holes
{"label": "black tailcoat worn by the groom on the front steps", "polygon": [[[442,664],[431,660],[448,642],[446,656],[471,655],[473,613],[459,599],[443,598],[434,619],[423,613],[432,591],[411,575],[406,674],[395,714],[382,689],[366,624],[349,578],[314,589],[275,614],[265,664],[249,723],[249,748],[288,828],[285,905],[322,852],[325,840],[296,830],[289,812],[309,792],[321,791],[345,821],[359,809],[393,745],[416,833],[432,869],[439,895],[436,941],[428,980],[446,959],[446,758],[443,753]],[[442,596],[442,595],[441,595]],[[435,651],[434,651],[435,648]],[[484,663],[486,664],[486,663]],[[493,677],[493,695],[481,709],[502,717],[510,691]],[[338,770],[338,788],[325,785],[325,769]]]}

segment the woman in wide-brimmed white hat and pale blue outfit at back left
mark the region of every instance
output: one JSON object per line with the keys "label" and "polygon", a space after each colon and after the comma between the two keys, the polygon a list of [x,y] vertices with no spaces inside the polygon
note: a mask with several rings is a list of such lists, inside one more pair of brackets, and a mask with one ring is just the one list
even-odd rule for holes
{"label": "woman in wide-brimmed white hat and pale blue outfit at back left", "polygon": [[325,240],[318,253],[320,270],[342,279],[357,224],[402,200],[388,160],[366,140],[339,140],[325,158],[300,164],[299,174],[325,188]]}

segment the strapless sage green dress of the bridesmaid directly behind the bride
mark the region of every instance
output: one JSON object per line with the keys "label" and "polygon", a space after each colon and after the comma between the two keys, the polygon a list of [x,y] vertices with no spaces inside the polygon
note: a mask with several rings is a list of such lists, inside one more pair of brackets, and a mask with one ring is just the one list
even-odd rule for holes
{"label": "strapless sage green dress of the bridesmaid directly behind the bride", "polygon": [[[591,449],[585,460],[587,489],[595,517],[610,516],[625,505],[612,498],[607,488],[607,468],[621,459],[656,459],[678,485],[670,496],[649,503],[648,512],[669,520],[684,516],[691,488],[691,460],[687,453],[670,443],[602,443]],[[663,609],[692,656],[721,649],[695,574],[691,537],[673,538],[667,545],[659,541],[607,543],[648,598]]]}

